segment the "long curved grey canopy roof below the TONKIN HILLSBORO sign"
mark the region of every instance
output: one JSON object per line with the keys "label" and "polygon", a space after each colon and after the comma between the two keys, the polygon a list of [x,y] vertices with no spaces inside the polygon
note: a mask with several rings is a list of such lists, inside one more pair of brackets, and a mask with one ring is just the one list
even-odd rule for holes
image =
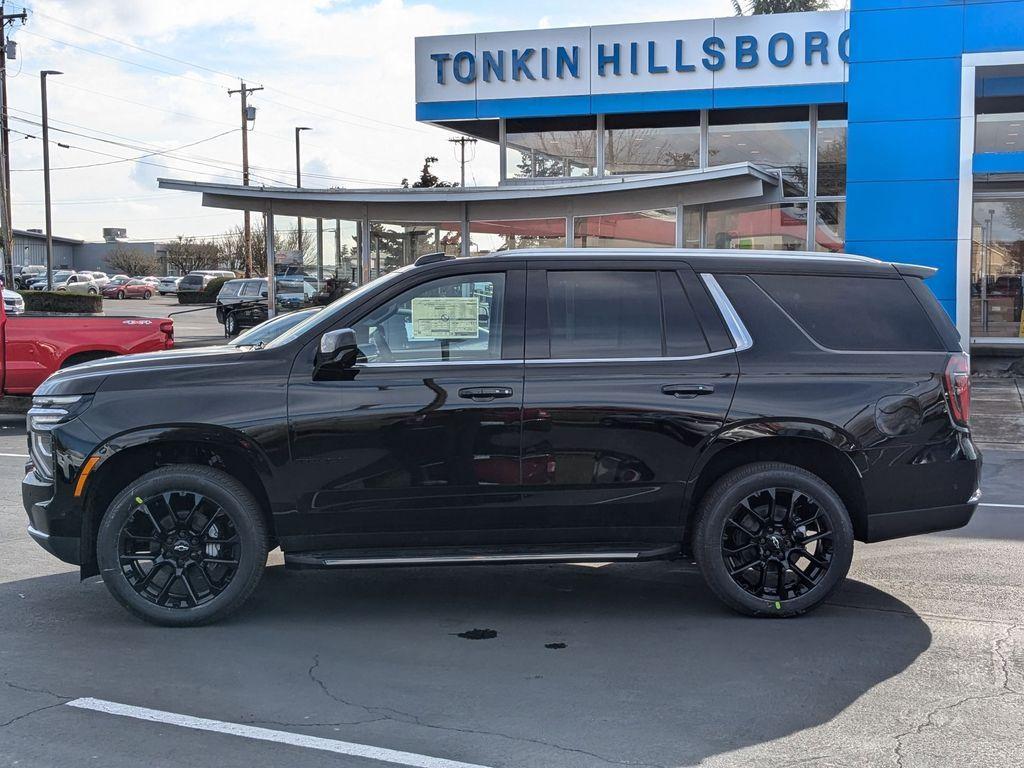
{"label": "long curved grey canopy roof below the TONKIN HILLSBORO sign", "polygon": [[776,170],[751,163],[630,176],[524,180],[501,186],[330,188],[242,186],[159,179],[163,189],[203,194],[210,208],[310,218],[449,221],[594,215],[732,201],[780,199]]}

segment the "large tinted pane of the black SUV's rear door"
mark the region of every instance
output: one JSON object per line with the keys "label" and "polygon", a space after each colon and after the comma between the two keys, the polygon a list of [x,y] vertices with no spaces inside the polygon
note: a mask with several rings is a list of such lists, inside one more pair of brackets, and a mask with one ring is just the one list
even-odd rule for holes
{"label": "large tinted pane of the black SUV's rear door", "polygon": [[549,271],[551,357],[660,356],[657,280],[656,271]]}

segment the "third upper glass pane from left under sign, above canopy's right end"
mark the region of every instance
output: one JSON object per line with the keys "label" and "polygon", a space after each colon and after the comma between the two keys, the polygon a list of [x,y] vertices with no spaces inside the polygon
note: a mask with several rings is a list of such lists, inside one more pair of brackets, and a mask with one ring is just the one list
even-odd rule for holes
{"label": "third upper glass pane from left under sign, above canopy's right end", "polygon": [[[713,112],[710,116],[709,165],[749,162],[778,168],[782,171],[784,195],[806,196],[810,132],[807,110],[743,111],[750,122],[733,122],[736,118],[730,117],[730,112]],[[754,122],[760,117],[765,121]]]}

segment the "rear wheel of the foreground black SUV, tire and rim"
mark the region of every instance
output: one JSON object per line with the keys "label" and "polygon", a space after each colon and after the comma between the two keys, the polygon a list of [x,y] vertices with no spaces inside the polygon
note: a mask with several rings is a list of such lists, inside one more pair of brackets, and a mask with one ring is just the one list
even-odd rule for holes
{"label": "rear wheel of the foreground black SUV, tire and rim", "polygon": [[846,578],[853,525],[817,475],[788,464],[749,464],[701,499],[693,555],[712,592],[733,610],[795,616],[821,604]]}

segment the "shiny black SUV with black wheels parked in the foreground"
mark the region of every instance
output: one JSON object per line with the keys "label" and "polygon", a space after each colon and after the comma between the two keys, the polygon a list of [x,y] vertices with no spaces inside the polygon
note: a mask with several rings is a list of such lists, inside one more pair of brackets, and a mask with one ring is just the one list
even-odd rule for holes
{"label": "shiny black SUV with black wheels parked in the foreground", "polygon": [[29,416],[29,532],[129,610],[293,568],[692,557],[729,606],[824,600],[854,540],[965,525],[967,356],[854,256],[424,257],[265,345],[76,366]]}

